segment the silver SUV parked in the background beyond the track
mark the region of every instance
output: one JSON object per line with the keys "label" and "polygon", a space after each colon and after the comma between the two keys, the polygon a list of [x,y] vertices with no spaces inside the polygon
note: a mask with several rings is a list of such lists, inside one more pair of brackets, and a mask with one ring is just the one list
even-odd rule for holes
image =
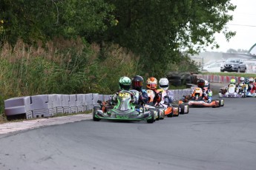
{"label": "silver SUV parked in the background beyond the track", "polygon": [[246,72],[246,63],[240,58],[229,58],[220,67],[220,72]]}

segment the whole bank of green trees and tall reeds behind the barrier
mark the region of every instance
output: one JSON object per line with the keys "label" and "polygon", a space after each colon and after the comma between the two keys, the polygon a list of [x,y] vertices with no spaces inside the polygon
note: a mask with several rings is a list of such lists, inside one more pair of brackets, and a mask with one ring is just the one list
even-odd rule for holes
{"label": "whole bank of green trees and tall reeds behind the barrier", "polygon": [[188,54],[234,35],[230,1],[1,0],[0,92],[109,94],[123,75],[194,72]]}

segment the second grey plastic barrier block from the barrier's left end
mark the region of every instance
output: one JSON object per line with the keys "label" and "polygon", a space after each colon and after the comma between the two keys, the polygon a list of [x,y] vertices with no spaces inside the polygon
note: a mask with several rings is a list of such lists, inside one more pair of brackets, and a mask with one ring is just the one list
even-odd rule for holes
{"label": "second grey plastic barrier block from the barrier's left end", "polygon": [[53,116],[53,101],[48,95],[31,96],[33,118],[47,118]]}

